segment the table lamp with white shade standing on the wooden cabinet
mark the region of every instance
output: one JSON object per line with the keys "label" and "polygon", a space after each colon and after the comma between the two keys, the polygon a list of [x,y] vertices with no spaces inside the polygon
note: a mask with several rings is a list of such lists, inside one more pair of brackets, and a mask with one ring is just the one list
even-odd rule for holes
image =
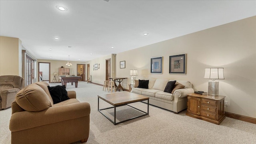
{"label": "table lamp with white shade standing on the wooden cabinet", "polygon": [[216,79],[224,79],[224,68],[205,68],[204,78],[212,80],[208,81],[208,95],[219,95],[219,81]]}

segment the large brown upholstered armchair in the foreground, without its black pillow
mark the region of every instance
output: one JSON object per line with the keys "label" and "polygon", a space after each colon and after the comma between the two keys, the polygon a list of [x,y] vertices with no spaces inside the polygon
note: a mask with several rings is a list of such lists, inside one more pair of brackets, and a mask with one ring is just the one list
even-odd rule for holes
{"label": "large brown upholstered armchair in the foreground, without its black pillow", "polygon": [[12,144],[70,144],[86,142],[90,130],[90,104],[69,100],[53,104],[46,82],[26,86],[12,103],[9,129]]}

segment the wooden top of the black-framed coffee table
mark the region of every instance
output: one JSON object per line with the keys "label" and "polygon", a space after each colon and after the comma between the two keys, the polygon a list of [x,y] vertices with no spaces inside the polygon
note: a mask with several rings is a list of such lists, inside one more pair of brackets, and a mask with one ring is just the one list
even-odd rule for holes
{"label": "wooden top of the black-framed coffee table", "polygon": [[149,98],[146,96],[142,96],[140,94],[134,94],[130,92],[116,92],[111,94],[102,94],[98,95],[98,98],[108,102],[113,106],[119,106],[124,104],[130,104],[133,102],[140,102],[142,100],[148,100]]}

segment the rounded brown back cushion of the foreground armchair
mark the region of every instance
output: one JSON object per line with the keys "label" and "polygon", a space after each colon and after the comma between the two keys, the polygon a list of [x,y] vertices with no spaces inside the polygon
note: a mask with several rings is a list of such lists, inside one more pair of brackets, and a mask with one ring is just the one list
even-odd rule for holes
{"label": "rounded brown back cushion of the foreground armchair", "polygon": [[37,84],[30,84],[20,90],[15,100],[21,108],[30,112],[38,112],[52,107],[49,96]]}

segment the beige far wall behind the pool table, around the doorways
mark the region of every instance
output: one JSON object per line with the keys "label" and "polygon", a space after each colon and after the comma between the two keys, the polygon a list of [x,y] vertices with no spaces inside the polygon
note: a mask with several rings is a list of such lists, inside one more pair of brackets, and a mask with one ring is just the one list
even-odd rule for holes
{"label": "beige far wall behind the pool table, around the doorways", "polygon": [[[70,68],[70,74],[74,74],[76,76],[77,73],[77,64],[85,64],[85,62],[76,62],[76,61],[70,61],[73,66],[66,66],[67,61],[64,60],[41,60],[38,59],[37,62],[50,62],[50,82],[52,82],[52,79],[54,78],[54,72],[57,73],[59,68],[63,66],[64,68]],[[37,63],[37,68],[38,68],[38,63]],[[36,70],[38,73],[38,70]],[[58,77],[56,77],[58,79]],[[38,78],[37,78],[38,80]]]}

